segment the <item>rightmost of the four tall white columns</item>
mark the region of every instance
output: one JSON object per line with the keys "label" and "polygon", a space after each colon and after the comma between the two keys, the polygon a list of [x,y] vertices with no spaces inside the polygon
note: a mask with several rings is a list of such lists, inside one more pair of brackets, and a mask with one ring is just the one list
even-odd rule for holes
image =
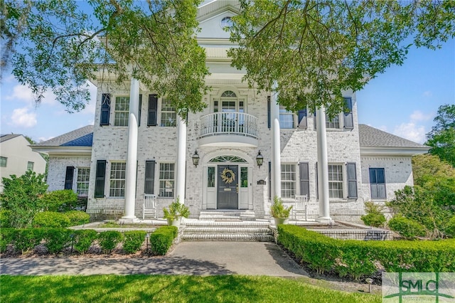
{"label": "rightmost of the four tall white columns", "polygon": [[316,110],[316,136],[318,147],[318,184],[319,184],[319,218],[320,222],[330,222],[328,206],[328,161],[326,109],[321,106]]}

